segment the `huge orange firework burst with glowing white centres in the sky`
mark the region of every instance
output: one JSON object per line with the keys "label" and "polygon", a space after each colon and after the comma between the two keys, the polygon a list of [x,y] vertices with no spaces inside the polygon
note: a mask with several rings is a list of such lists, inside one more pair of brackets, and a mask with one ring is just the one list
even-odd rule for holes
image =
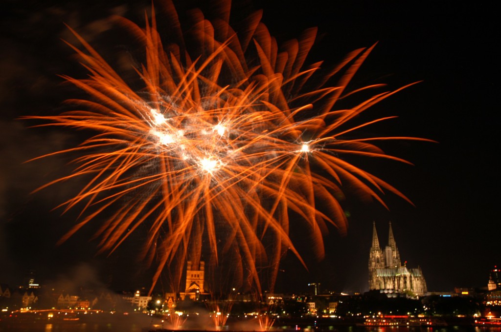
{"label": "huge orange firework burst with glowing white centres in the sky", "polygon": [[[236,274],[258,289],[256,266],[272,266],[273,289],[283,254],[291,250],[301,260],[289,238],[291,211],[309,225],[316,253],[322,256],[327,224],[341,231],[346,227],[336,199],[343,185],[349,183],[383,205],[380,195],[386,191],[407,199],[342,158],[355,154],[407,162],[385,154],[373,141],[420,139],[343,139],[389,118],[350,126],[354,117],[396,91],[381,92],[351,108],[335,108],[341,98],[358,92],[345,89],[372,47],[351,52],[317,77],[321,62],[305,66],[315,28],[279,50],[261,22],[261,11],[250,14],[247,28],[236,34],[228,23],[230,2],[219,5],[223,18],[213,23],[194,11],[196,22],[189,30],[197,42],[195,51],[180,37],[181,24],[170,1],[165,2],[166,15],[179,40],[169,40],[165,48],[154,12],[144,29],[118,19],[145,46],[144,64],[136,68],[144,83],[139,91],[71,30],[83,50],[70,46],[90,75],[63,77],[89,99],[70,99],[81,107],[77,110],[28,117],[47,120],[44,125],[97,132],[80,146],[55,152],[82,155],[71,175],[47,185],[91,176],[78,195],[61,204],[65,210],[82,206],[82,220],[62,241],[104,211],[113,213],[96,234],[103,251],[115,250],[146,224],[143,255],[158,261],[152,288],[167,266],[178,271],[179,279],[187,256],[196,263],[202,243],[208,243],[214,264],[221,252],[231,255],[240,262]],[[247,62],[252,54],[257,58]],[[329,86],[334,76],[339,81]],[[380,86],[360,91],[375,87]],[[328,203],[318,208],[318,199]]]}

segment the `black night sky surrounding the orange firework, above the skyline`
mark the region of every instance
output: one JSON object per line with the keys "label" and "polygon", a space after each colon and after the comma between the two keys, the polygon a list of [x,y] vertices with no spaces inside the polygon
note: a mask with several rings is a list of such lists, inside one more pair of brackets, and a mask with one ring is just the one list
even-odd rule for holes
{"label": "black night sky surrounding the orange firework, above the skyline", "polygon": [[[501,54],[496,11],[488,1],[437,2],[234,1],[238,10],[263,8],[263,21],[279,41],[318,26],[311,62],[323,59],[334,66],[349,51],[377,42],[354,84],[385,81],[396,88],[422,81],[374,108],[375,117],[379,111],[399,116],[378,129],[388,135],[438,141],[385,144],[388,152],[414,166],[379,163],[373,165],[375,172],[406,194],[415,207],[390,195],[384,198],[389,211],[374,203],[347,202],[348,234],[332,232],[326,237],[326,259],[311,261],[310,273],[287,257],[279,275],[284,290],[304,289],[312,281],[337,291],[367,290],[373,220],[382,244],[392,221],[401,258],[410,267],[421,266],[429,290],[485,286],[489,268],[501,263],[499,164],[495,161]],[[71,38],[64,23],[110,58],[134,47],[132,42],[115,41],[110,30],[116,27],[109,17],[125,15],[142,26],[141,17],[150,1],[103,3],[11,0],[3,5],[0,282],[17,284],[28,269],[37,270],[43,280],[72,278],[91,270],[89,278],[112,287],[148,286],[148,271],[134,265],[140,234],[109,257],[95,255],[90,229],[55,246],[76,212],[61,215],[60,209],[52,208],[75,192],[78,183],[30,194],[71,166],[62,156],[24,161],[77,144],[79,134],[64,128],[28,129],[28,122],[16,119],[57,113],[66,98],[75,96],[75,88],[62,84],[57,76],[85,76],[71,49],[61,41]],[[188,3],[186,8],[196,1]]]}

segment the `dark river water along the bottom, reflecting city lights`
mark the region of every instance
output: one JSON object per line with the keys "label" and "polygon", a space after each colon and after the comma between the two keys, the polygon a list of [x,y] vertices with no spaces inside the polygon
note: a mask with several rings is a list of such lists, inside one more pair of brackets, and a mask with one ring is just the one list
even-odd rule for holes
{"label": "dark river water along the bottom, reflecting city lights", "polygon": [[[176,321],[162,320],[146,314],[66,314],[57,310],[10,314],[0,316],[0,332],[147,332],[167,330]],[[59,313],[59,312],[58,312]],[[86,312],[87,313],[87,312]],[[186,319],[188,318],[188,319]],[[189,315],[182,323],[185,331],[213,331],[214,322],[206,315]],[[230,317],[224,331],[258,331],[260,320],[255,317]],[[271,323],[269,321],[268,323]],[[501,325],[470,326],[470,320],[447,321],[447,326],[364,326],[362,321],[330,320],[318,318],[290,318],[276,320],[272,332],[501,332]],[[438,321],[437,321],[438,322]],[[442,321],[444,322],[444,321]],[[262,322],[263,323],[263,322]],[[455,324],[464,324],[463,326]]]}

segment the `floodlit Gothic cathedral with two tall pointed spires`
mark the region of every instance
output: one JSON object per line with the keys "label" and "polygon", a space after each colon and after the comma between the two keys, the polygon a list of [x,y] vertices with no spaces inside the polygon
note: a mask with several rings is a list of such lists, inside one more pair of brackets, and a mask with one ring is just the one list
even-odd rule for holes
{"label": "floodlit Gothic cathedral with two tall pointed spires", "polygon": [[369,289],[379,289],[395,296],[398,293],[422,296],[427,291],[421,268],[407,268],[405,263],[401,264],[391,222],[388,245],[384,250],[379,245],[376,223],[373,223],[372,246],[369,253]]}

